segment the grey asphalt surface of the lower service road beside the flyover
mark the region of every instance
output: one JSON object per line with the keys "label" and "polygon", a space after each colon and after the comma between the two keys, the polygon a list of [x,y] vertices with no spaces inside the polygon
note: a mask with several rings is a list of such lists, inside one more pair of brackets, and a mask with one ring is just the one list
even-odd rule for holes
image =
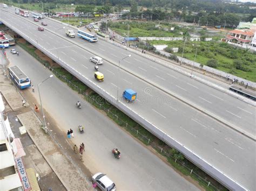
{"label": "grey asphalt surface of the lower service road beside the flyover", "polygon": [[[21,55],[10,55],[10,66],[17,65],[30,76],[35,93],[31,88],[23,91],[30,91],[39,103],[36,84],[51,72],[21,48],[17,49]],[[63,138],[66,139],[66,131],[73,128],[72,142],[85,144],[84,164],[92,174],[106,173],[118,190],[199,190],[90,104],[82,103],[82,109],[77,109],[75,103],[79,95],[57,77],[45,81],[40,92],[44,108],[63,131]],[[79,124],[85,126],[85,133],[78,133]],[[119,160],[111,153],[114,147],[121,152]]]}

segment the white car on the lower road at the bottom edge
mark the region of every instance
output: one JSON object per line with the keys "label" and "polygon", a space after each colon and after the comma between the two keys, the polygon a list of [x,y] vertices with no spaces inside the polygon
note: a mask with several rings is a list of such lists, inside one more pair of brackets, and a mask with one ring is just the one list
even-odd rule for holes
{"label": "white car on the lower road at the bottom edge", "polygon": [[116,185],[112,180],[107,177],[106,174],[101,172],[96,173],[92,176],[93,183],[97,183],[97,186],[104,191],[116,191]]}

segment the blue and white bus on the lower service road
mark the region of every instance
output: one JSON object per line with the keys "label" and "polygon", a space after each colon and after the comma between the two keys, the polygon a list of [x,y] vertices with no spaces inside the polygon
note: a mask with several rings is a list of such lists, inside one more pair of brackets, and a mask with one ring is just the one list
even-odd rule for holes
{"label": "blue and white bus on the lower service road", "polygon": [[31,86],[31,81],[29,77],[19,69],[18,66],[12,66],[8,68],[11,79],[17,84],[21,89],[28,88]]}

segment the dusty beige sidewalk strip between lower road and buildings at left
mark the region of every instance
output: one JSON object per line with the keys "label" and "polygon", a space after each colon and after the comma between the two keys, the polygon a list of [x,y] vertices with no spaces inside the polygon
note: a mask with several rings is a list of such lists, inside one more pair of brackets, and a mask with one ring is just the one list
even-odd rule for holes
{"label": "dusty beige sidewalk strip between lower road and buildings at left", "polygon": [[[52,138],[53,136],[44,133],[43,129],[41,129],[42,122],[36,116],[35,112],[29,108],[29,104],[26,102],[26,107],[22,106],[22,95],[14,86],[11,86],[10,81],[3,75],[3,73],[0,74],[0,82],[2,82],[0,83],[0,90],[6,102],[8,102],[12,110],[18,110],[17,113],[19,114],[17,117],[19,121],[25,126],[33,143],[35,143],[38,150],[56,173],[64,187],[67,190],[92,190],[91,182],[81,169],[78,168],[76,162],[73,162],[71,158],[68,159],[63,152],[63,148],[61,148],[56,140]],[[72,150],[71,147],[65,149]],[[41,160],[36,161],[37,165],[41,162]],[[37,170],[44,171],[44,167],[41,166],[41,168],[42,169]]]}

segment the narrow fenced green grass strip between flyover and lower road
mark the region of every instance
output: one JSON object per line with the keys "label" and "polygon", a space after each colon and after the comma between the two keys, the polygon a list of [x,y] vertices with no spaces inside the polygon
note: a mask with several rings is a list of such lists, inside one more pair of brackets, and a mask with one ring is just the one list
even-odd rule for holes
{"label": "narrow fenced green grass strip between flyover and lower road", "polygon": [[[38,54],[35,53],[36,48],[31,47],[29,43],[18,42],[18,44],[24,48],[27,52],[29,52],[32,56],[34,56],[37,60],[41,61],[45,64]],[[139,139],[145,145],[150,145],[154,148],[158,153],[163,155],[167,161],[176,169],[178,169],[181,173],[186,176],[191,176],[194,180],[196,180],[199,185],[201,185],[206,190],[227,190],[223,185],[219,182],[215,181],[211,176],[207,175],[204,171],[201,171],[200,168],[195,166],[192,162],[187,159],[183,160],[175,160],[174,155],[170,153],[171,147],[166,145],[164,142],[159,140],[157,137],[152,135],[149,131],[147,131],[143,126],[139,125],[137,122],[133,121],[129,116],[125,115],[122,111],[118,110],[116,107],[111,105],[109,102],[104,100],[103,97],[100,97],[97,93],[92,91],[89,87],[87,87],[84,83],[80,82],[75,76],[72,76],[68,71],[64,68],[55,65],[51,67],[52,72],[62,81],[66,82],[68,86],[72,89],[77,90],[78,93],[83,94],[86,101],[95,105],[100,110],[104,110],[106,115],[109,116],[114,122],[118,125],[122,126],[127,132],[129,132],[132,136]],[[163,152],[161,152],[162,150]],[[193,173],[190,171],[193,169]],[[203,178],[200,178],[203,177]],[[208,182],[211,182],[210,186]],[[214,186],[213,186],[214,185]]]}

